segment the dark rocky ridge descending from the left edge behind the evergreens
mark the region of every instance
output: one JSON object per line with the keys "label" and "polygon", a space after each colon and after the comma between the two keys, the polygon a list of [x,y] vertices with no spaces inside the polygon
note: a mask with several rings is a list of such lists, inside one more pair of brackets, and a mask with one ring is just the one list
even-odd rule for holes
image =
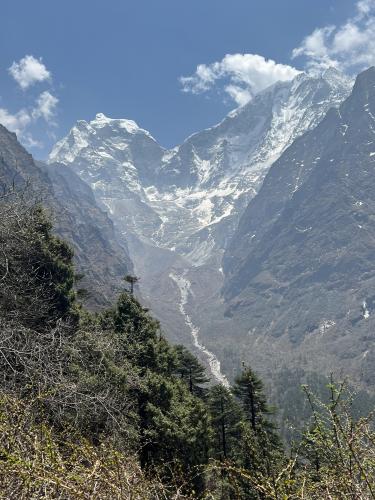
{"label": "dark rocky ridge descending from the left edge behind the evergreens", "polygon": [[1,125],[0,181],[4,189],[29,184],[26,191],[51,210],[57,234],[74,248],[77,270],[85,275],[79,286],[90,292],[87,304],[108,304],[132,264],[125,241],[115,235],[91,188],[68,167],[35,162],[16,135]]}

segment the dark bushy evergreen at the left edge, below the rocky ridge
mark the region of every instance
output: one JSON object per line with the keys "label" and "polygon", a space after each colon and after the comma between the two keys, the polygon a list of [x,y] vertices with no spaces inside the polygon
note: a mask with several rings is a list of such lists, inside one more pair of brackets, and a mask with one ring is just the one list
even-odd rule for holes
{"label": "dark bushy evergreen at the left edge, below the rocky ridge", "polygon": [[43,208],[12,197],[0,213],[1,316],[36,330],[76,318],[73,252]]}

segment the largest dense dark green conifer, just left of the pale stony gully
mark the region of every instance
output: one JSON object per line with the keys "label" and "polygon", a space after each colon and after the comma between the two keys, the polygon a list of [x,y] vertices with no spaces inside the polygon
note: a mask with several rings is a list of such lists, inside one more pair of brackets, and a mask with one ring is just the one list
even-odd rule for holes
{"label": "largest dense dark green conifer, just left of the pale stony gully", "polygon": [[[195,488],[202,488],[201,479],[192,478],[195,467],[208,460],[209,416],[205,404],[176,376],[175,349],[130,294],[120,295],[116,307],[103,315],[103,323],[123,338],[140,375],[136,399],[142,466],[160,469],[176,462]],[[168,478],[168,468],[164,472]]]}

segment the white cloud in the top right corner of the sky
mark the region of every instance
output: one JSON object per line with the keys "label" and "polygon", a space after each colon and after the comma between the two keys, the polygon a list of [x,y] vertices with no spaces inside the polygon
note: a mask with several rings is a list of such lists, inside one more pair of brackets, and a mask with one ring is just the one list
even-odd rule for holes
{"label": "white cloud in the top right corner of the sky", "polygon": [[293,50],[310,70],[329,66],[357,72],[375,64],[375,0],[359,0],[354,16],[341,26],[315,29]]}

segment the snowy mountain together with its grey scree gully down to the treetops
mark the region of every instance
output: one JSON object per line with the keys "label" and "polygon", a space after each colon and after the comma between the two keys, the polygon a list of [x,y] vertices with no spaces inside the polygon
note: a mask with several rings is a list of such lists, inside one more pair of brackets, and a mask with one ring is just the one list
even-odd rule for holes
{"label": "snowy mountain together with its grey scree gully down to the treetops", "polygon": [[51,152],[49,161],[87,182],[126,236],[142,296],[169,337],[195,350],[218,380],[223,251],[271,164],[351,87],[336,70],[301,74],[172,150],[132,121],[98,114]]}

